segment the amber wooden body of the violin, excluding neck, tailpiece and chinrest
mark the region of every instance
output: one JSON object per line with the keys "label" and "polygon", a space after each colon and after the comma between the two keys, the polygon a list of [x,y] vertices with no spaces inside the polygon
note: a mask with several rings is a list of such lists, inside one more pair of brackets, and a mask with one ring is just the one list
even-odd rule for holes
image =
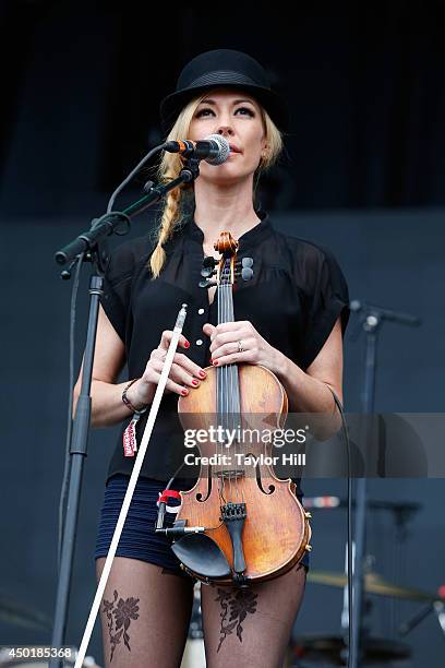
{"label": "amber wooden body of the violin, excluding neck, tailpiece and chinrest", "polygon": [[[211,424],[216,424],[217,371],[214,367],[206,368],[205,383],[187,397],[179,398],[178,411],[183,429],[205,429],[208,432]],[[241,421],[244,422],[242,416],[248,416],[250,427],[260,430],[281,428],[288,401],[275,374],[265,367],[238,365],[238,378]],[[200,443],[199,449],[202,456],[215,454],[215,443]],[[231,449],[233,445],[224,446],[225,454],[230,454]],[[272,456],[272,444],[251,441],[238,444],[238,451],[253,457],[261,454]],[[232,540],[227,526],[221,523],[220,494],[226,500],[245,499],[248,512],[242,545],[246,568],[243,575],[253,583],[276,577],[298,563],[310,549],[311,528],[309,514],[296,497],[296,484],[290,478],[280,480],[270,465],[261,463],[244,466],[244,475],[230,479],[230,475],[218,475],[224,474],[224,466],[202,466],[196,485],[180,492],[182,505],[177,521],[187,518],[190,526],[217,527],[206,534],[222,550],[233,571]],[[199,580],[208,581],[201,573],[185,565],[182,568]],[[218,583],[233,584],[233,580],[232,576],[218,578]]]}

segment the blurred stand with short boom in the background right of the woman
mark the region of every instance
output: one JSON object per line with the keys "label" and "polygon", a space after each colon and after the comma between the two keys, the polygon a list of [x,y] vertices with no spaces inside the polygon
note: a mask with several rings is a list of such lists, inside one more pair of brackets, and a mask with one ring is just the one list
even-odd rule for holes
{"label": "blurred stand with short boom in the background right of the woman", "polygon": [[[364,386],[362,395],[363,414],[366,416],[365,438],[363,440],[365,446],[369,446],[370,426],[369,420],[374,410],[375,397],[375,373],[376,373],[376,357],[377,357],[377,337],[381,326],[385,320],[398,322],[407,325],[419,325],[421,320],[409,313],[400,313],[382,307],[360,302],[358,300],[350,302],[351,311],[362,311],[361,327],[365,333],[365,369],[364,369]],[[366,454],[366,453],[365,453]],[[364,456],[368,461],[368,457]],[[354,541],[354,560],[352,571],[352,610],[349,611],[349,623],[352,623],[352,646],[349,647],[349,666],[357,668],[359,663],[360,643],[363,636],[362,616],[363,616],[363,558],[365,546],[365,510],[366,510],[366,477],[365,473],[362,478],[357,479],[357,501],[356,501],[356,541]]]}

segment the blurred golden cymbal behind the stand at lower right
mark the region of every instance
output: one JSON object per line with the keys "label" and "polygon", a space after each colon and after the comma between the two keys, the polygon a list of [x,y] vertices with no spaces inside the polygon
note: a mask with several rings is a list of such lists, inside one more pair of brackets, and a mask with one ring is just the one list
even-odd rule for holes
{"label": "blurred golden cymbal behind the stand at lower right", "polygon": [[[348,576],[345,573],[336,573],[334,571],[309,571],[308,581],[316,584],[330,585],[333,587],[346,587]],[[380,596],[394,596],[396,598],[407,598],[410,600],[443,600],[437,594],[422,592],[411,587],[401,587],[385,581],[377,573],[365,573],[364,591],[369,594],[377,594]]]}

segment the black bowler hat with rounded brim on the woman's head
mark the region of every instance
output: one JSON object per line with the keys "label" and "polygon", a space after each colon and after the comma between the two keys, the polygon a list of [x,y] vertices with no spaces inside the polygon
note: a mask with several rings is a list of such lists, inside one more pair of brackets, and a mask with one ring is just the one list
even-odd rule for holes
{"label": "black bowler hat with rounded brim on the woman's head", "polygon": [[160,120],[167,132],[193,97],[209,88],[230,87],[251,94],[280,130],[288,124],[285,100],[270,88],[264,68],[251,56],[232,49],[205,51],[193,58],[179,75],[175,93],[160,103]]}

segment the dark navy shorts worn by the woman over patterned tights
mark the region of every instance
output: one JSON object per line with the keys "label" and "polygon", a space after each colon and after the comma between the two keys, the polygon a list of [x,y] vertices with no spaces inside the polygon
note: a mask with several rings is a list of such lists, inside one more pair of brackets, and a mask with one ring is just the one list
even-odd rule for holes
{"label": "dark navy shorts worn by the woman over patterned tights", "polygon": [[[129,480],[130,477],[123,474],[116,474],[108,480],[97,534],[95,559],[108,554]],[[180,568],[180,561],[171,550],[171,539],[155,532],[158,511],[156,502],[159,498],[159,492],[166,486],[167,482],[140,477],[130,503],[116,556],[155,563],[168,572],[195,582],[194,577]],[[191,480],[180,479],[176,479],[170,487],[170,489],[177,491],[190,488]],[[169,505],[175,505],[175,501],[169,501]],[[172,526],[175,518],[176,514],[166,513],[164,526]],[[308,571],[308,552],[305,552],[301,563]]]}

